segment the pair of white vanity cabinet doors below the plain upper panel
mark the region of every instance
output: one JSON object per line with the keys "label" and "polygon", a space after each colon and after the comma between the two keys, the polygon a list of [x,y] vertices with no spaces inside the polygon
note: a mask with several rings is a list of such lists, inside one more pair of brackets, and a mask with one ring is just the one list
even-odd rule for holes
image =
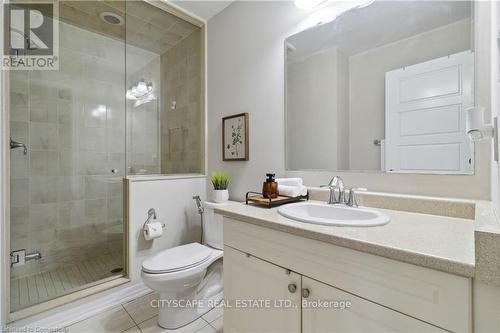
{"label": "pair of white vanity cabinet doors below the plain upper panel", "polygon": [[445,332],[228,246],[224,266],[225,332]]}

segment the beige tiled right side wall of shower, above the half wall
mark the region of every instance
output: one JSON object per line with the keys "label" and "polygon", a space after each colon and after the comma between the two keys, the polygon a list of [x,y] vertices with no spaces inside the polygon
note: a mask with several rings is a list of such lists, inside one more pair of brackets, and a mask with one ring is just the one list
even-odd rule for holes
{"label": "beige tiled right side wall of shower, above the half wall", "polygon": [[197,29],[161,56],[161,172],[165,174],[202,172],[201,37]]}

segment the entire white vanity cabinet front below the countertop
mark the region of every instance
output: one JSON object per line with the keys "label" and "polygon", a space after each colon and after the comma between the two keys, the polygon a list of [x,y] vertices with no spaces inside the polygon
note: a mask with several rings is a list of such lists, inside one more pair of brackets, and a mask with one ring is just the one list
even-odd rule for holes
{"label": "entire white vanity cabinet front below the countertop", "polygon": [[[297,304],[226,308],[225,332],[471,332],[470,278],[230,218],[224,218],[224,243],[230,305]],[[296,288],[289,290],[291,284]]]}

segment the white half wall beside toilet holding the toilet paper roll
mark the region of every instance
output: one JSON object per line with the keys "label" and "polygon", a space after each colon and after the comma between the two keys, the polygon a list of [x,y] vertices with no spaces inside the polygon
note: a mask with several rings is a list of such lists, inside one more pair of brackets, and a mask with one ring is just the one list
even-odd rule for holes
{"label": "white half wall beside toilet holding the toilet paper roll", "polygon": [[[161,250],[200,241],[200,216],[193,196],[205,199],[204,176],[131,177],[129,205],[129,275],[132,282],[141,280],[142,261]],[[142,226],[147,211],[154,208],[158,220],[166,224],[160,238],[146,241]]]}

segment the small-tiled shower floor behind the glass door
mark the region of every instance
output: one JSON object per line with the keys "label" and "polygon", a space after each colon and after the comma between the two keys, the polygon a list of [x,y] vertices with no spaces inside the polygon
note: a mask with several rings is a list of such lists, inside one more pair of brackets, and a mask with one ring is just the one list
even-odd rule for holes
{"label": "small-tiled shower floor behind the glass door", "polygon": [[51,271],[10,280],[10,308],[17,311],[29,306],[84,289],[96,281],[121,275],[111,270],[123,267],[121,255],[106,255]]}

